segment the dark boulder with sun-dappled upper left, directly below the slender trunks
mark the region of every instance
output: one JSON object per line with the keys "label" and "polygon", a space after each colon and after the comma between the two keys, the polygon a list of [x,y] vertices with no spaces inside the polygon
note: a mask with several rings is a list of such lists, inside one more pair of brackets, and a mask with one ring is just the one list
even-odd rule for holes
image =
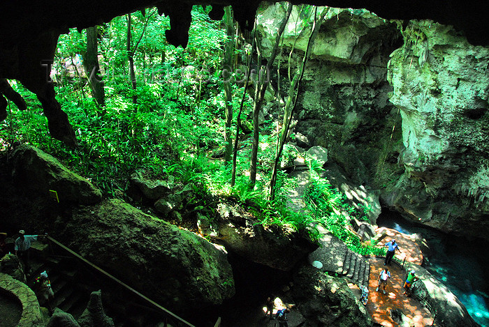
{"label": "dark boulder with sun-dappled upper left, directly below the slender trunks", "polygon": [[[221,202],[213,223],[226,250],[249,261],[290,271],[295,264],[317,248],[307,238],[277,225],[264,227],[238,204]],[[286,254],[286,255],[284,255]]]}

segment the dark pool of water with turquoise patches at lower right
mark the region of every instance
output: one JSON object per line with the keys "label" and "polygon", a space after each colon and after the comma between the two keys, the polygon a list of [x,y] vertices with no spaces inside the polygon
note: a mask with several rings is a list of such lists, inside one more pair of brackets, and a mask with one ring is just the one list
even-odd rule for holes
{"label": "dark pool of water with turquoise patches at lower right", "polygon": [[489,285],[484,278],[489,273],[489,257],[483,251],[489,248],[488,242],[448,236],[391,212],[383,211],[377,224],[426,238],[431,253],[423,266],[458,297],[478,324],[489,327]]}

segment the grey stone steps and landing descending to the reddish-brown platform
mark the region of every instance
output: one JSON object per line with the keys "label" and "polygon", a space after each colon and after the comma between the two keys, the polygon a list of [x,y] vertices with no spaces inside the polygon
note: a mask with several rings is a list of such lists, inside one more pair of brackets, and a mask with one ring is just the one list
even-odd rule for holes
{"label": "grey stone steps and landing descending to the reddish-brown platform", "polygon": [[351,251],[327,229],[323,229],[321,226],[315,228],[321,233],[320,247],[309,254],[309,263],[320,261],[322,264],[321,271],[348,277],[358,286],[368,285],[370,275],[368,261],[360,254]]}

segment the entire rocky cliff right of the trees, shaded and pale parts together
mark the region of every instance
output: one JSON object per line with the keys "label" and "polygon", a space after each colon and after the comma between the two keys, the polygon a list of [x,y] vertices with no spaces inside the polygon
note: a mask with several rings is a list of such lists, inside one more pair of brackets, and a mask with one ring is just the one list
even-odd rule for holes
{"label": "entire rocky cliff right of the trees, shaded and pale parts together", "polygon": [[[296,49],[293,59],[309,36],[294,27],[305,20],[299,11],[284,36],[286,52]],[[283,12],[276,4],[258,18],[265,52],[279,24],[270,17]],[[381,201],[406,218],[488,238],[488,54],[449,26],[330,8],[305,73],[295,132],[328,149],[328,165],[353,185],[381,190]]]}

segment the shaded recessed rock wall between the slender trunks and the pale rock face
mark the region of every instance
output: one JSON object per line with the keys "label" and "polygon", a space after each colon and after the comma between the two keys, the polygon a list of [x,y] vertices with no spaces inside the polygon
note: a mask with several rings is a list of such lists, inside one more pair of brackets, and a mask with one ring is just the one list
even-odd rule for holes
{"label": "shaded recessed rock wall between the slender trunks and the pale rock face", "polygon": [[[302,28],[307,20],[312,25],[312,18],[300,8],[293,8],[284,32],[282,85],[288,83],[292,46],[295,50],[291,73],[294,73],[309,38],[311,27],[304,31]],[[319,8],[318,12],[321,11]],[[279,18],[272,17],[284,17],[282,5],[269,6],[258,15],[265,56],[279,26]],[[296,22],[302,23],[296,28]],[[291,142],[328,149],[328,169],[335,170],[331,175],[346,176],[353,189],[366,185],[372,199],[378,199],[378,192],[370,196],[370,190],[384,183],[378,178],[384,173],[383,163],[397,162],[400,152],[397,148],[402,146],[398,132],[400,116],[388,101],[393,88],[386,79],[389,55],[401,45],[397,24],[367,10],[330,8],[314,43],[295,108],[297,137]],[[393,126],[397,129],[391,138]],[[302,138],[307,143],[299,142]],[[330,183],[335,185],[331,179]]]}

